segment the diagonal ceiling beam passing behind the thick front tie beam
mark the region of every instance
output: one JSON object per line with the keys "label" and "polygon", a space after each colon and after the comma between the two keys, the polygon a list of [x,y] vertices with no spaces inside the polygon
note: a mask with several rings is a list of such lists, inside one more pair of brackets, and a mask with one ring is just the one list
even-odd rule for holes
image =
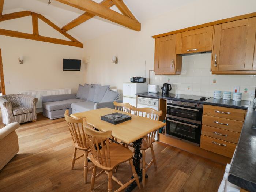
{"label": "diagonal ceiling beam passing behind the thick front tie beam", "polygon": [[[118,1],[122,1],[122,0],[118,0]],[[101,1],[99,4],[103,5],[106,8],[110,8],[114,5],[114,3],[112,2],[112,0],[103,0]],[[71,22],[69,22],[67,25],[62,27],[63,31],[68,31],[73,29],[74,27],[80,25],[83,22],[86,22],[87,20],[91,19],[92,17],[94,17],[95,15],[90,14],[88,12],[85,12],[84,14],[80,15],[78,18],[72,20]]]}

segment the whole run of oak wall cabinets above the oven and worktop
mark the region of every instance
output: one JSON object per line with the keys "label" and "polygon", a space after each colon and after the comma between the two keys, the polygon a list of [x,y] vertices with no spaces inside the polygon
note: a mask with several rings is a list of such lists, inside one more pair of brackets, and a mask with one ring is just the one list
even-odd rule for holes
{"label": "whole run of oak wall cabinets above the oven and worktop", "polygon": [[256,12],[153,36],[157,75],[179,75],[182,55],[212,52],[212,74],[256,74]]}

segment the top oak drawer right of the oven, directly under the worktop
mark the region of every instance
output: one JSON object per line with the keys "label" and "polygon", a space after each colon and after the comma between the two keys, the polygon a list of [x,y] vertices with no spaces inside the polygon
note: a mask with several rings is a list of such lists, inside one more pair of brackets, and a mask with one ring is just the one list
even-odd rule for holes
{"label": "top oak drawer right of the oven, directly under the worktop", "polygon": [[226,107],[218,107],[212,105],[204,105],[203,114],[221,117],[227,119],[233,119],[237,121],[244,121],[245,110],[244,109],[234,109],[234,108],[226,108]]}

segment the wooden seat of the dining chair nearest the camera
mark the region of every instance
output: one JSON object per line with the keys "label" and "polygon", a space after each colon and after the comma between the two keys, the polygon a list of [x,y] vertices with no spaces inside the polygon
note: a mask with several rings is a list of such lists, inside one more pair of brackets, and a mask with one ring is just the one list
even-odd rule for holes
{"label": "wooden seat of the dining chair nearest the camera", "polygon": [[[109,143],[109,152],[110,152],[110,158],[111,158],[111,162],[110,162],[111,165],[110,167],[104,167],[105,170],[112,170],[114,169],[114,167],[128,161],[133,156],[133,152],[131,150],[117,143]],[[105,147],[105,154],[107,154],[106,147]],[[98,161],[96,161],[93,158],[93,155],[90,155],[89,158],[94,163],[94,165],[102,168],[103,165],[99,164]]]}

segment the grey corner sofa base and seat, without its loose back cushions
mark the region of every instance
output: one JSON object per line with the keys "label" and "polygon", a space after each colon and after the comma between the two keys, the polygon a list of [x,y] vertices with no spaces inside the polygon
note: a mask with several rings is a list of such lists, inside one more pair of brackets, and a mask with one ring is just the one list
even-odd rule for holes
{"label": "grey corner sofa base and seat, without its loose back cushions", "polygon": [[43,115],[49,119],[57,119],[64,117],[65,110],[69,110],[69,114],[79,113],[99,108],[113,108],[113,102],[123,102],[122,99],[116,99],[107,102],[93,102],[86,99],[76,98],[77,94],[51,95],[42,97]]}

